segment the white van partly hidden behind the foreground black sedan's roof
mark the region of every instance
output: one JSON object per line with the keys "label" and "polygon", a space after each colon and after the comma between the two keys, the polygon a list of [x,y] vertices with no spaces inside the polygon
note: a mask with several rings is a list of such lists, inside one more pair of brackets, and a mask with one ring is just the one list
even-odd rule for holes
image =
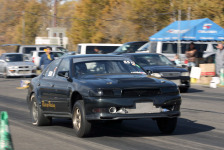
{"label": "white van partly hidden behind the foreground black sedan's roof", "polygon": [[122,44],[105,44],[105,43],[80,43],[77,46],[77,54],[96,54],[95,48],[99,49],[103,54],[112,53]]}

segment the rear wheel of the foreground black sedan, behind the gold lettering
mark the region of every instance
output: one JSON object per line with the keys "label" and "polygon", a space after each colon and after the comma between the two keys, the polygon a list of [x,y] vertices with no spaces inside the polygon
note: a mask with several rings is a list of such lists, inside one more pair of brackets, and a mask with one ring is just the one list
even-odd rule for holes
{"label": "rear wheel of the foreground black sedan, behind the gold lettering", "polygon": [[40,106],[38,105],[34,94],[31,96],[30,100],[31,100],[30,114],[32,118],[32,124],[35,126],[50,125],[52,122],[52,118],[47,118],[43,115],[42,110],[40,109]]}

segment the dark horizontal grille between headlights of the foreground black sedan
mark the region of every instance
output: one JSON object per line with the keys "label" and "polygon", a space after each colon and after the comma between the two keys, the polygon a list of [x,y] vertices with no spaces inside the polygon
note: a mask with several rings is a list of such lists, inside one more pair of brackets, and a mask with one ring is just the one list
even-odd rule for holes
{"label": "dark horizontal grille between headlights of the foreground black sedan", "polygon": [[160,89],[125,89],[122,97],[148,97],[161,94]]}

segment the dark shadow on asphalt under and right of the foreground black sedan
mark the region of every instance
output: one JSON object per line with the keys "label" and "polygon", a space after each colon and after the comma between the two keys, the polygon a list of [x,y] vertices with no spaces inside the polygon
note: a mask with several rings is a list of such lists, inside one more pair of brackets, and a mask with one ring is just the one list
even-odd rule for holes
{"label": "dark shadow on asphalt under and right of the foreground black sedan", "polygon": [[[71,120],[57,120],[53,121],[53,126],[63,126],[72,129]],[[185,118],[179,118],[176,130],[172,135],[188,135],[201,132],[208,132],[215,129],[212,126],[197,123]],[[70,130],[68,130],[71,135]],[[125,120],[122,123],[108,123],[100,122],[95,123],[92,132],[88,138],[93,137],[153,137],[164,136],[157,128],[156,121],[151,119],[139,119],[139,120]]]}

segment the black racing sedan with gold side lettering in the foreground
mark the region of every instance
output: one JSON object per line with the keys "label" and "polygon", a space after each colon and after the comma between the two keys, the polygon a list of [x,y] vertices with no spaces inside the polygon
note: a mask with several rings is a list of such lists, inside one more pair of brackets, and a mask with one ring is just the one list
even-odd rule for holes
{"label": "black racing sedan with gold side lettering in the foreground", "polygon": [[78,137],[96,121],[152,118],[162,133],[172,133],[181,96],[173,82],[148,76],[129,58],[75,55],[54,60],[31,80],[27,103],[32,124],[71,118]]}

